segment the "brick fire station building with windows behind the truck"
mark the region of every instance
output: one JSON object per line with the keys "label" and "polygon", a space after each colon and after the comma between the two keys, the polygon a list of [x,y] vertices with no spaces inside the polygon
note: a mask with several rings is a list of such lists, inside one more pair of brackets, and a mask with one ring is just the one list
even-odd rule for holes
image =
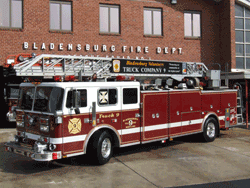
{"label": "brick fire station building with windows behind the truck", "polygon": [[19,53],[203,62],[244,91],[250,1],[1,0],[0,44],[0,65]]}

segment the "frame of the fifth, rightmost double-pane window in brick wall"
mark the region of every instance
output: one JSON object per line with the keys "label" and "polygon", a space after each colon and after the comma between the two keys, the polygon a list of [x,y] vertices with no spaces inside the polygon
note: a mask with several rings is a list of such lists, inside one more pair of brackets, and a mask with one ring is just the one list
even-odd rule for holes
{"label": "frame of the fifth, rightmost double-pane window in brick wall", "polygon": [[[185,14],[191,14],[191,36],[186,36],[186,31],[185,31]],[[194,21],[193,21],[193,15],[194,14],[199,14],[200,16],[200,36],[194,36]],[[183,18],[184,18],[184,38],[185,39],[201,39],[202,38],[202,12],[201,11],[184,11],[183,13]]]}

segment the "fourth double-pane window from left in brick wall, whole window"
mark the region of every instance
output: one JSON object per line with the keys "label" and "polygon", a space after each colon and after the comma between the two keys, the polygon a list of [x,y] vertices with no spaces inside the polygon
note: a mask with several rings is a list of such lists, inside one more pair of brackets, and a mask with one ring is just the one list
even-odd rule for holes
{"label": "fourth double-pane window from left in brick wall, whole window", "polygon": [[144,8],[144,35],[162,35],[161,9]]}

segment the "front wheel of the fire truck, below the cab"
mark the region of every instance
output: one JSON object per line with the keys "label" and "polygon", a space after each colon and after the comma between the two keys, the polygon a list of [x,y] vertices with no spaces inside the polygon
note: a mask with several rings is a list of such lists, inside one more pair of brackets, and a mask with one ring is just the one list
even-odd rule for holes
{"label": "front wheel of the fire truck, below the cab", "polygon": [[96,164],[103,165],[109,162],[113,154],[113,145],[108,132],[99,132],[94,136],[92,151]]}

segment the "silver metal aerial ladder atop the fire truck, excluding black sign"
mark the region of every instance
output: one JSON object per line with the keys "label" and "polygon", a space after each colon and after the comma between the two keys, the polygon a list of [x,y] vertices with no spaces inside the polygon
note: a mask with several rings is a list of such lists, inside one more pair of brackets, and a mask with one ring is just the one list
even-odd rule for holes
{"label": "silver metal aerial ladder atop the fire truck, excluding black sign", "polygon": [[[112,71],[112,62],[114,58],[105,57],[86,57],[71,55],[53,55],[53,54],[20,54],[9,56],[7,58],[6,67],[11,67],[14,74],[18,77],[40,77],[50,79],[55,76],[63,78],[74,75],[76,77],[92,77],[96,76],[98,80],[115,78],[118,73]],[[151,60],[141,60],[151,61]],[[152,60],[152,62],[154,62]],[[157,61],[166,63],[166,61]],[[170,62],[171,63],[171,62]],[[119,73],[124,76],[134,76],[137,80],[146,78],[172,78],[177,81],[183,80],[185,77],[202,78],[208,71],[204,63],[185,62],[185,74],[134,74]],[[81,81],[81,79],[80,79]]]}

